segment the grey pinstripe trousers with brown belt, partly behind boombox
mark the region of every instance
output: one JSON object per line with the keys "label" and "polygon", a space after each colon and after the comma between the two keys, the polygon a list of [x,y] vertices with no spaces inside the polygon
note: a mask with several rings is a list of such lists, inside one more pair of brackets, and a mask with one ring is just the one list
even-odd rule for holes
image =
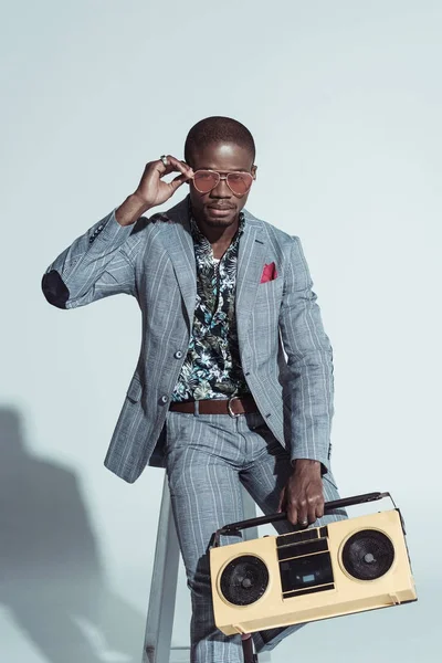
{"label": "grey pinstripe trousers with brown belt, partly behind boombox", "polygon": [[[275,513],[280,493],[293,472],[290,453],[260,413],[188,414],[169,411],[166,420],[166,471],[187,583],[191,592],[191,663],[242,663],[241,636],[227,636],[214,625],[208,546],[214,530],[244,518],[241,484],[264,514]],[[325,501],[339,497],[323,477]],[[314,526],[346,518],[344,509]],[[274,524],[280,534],[288,522]],[[224,544],[238,537],[223,537]],[[273,649],[299,625],[253,634],[256,651]]]}

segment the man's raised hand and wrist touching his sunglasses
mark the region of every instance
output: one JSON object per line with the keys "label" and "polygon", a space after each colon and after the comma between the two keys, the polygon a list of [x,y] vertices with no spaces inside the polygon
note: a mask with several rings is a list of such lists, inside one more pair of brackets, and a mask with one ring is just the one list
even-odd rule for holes
{"label": "man's raised hand and wrist touching his sunglasses", "polygon": [[[190,166],[170,155],[167,156],[167,166],[161,159],[146,164],[136,191],[115,212],[120,225],[131,225],[144,212],[169,200],[181,185],[192,179],[193,170]],[[171,182],[164,182],[161,178],[170,172],[180,175]]]}

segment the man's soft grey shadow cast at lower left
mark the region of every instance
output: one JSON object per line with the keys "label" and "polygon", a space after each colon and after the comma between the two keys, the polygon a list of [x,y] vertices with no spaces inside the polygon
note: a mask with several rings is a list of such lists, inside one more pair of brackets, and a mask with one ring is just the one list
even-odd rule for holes
{"label": "man's soft grey shadow cast at lower left", "polygon": [[138,663],[146,620],[106,583],[75,474],[27,450],[11,408],[0,454],[0,602],[49,663]]}

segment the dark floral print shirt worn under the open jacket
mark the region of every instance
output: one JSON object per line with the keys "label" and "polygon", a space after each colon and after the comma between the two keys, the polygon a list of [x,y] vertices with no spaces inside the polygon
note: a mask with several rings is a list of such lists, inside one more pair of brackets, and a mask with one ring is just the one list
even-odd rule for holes
{"label": "dark floral print shirt worn under the open jacket", "polygon": [[250,393],[240,361],[235,318],[236,263],[244,214],[220,261],[193,217],[190,227],[197,262],[197,305],[192,334],[172,401],[230,398]]}

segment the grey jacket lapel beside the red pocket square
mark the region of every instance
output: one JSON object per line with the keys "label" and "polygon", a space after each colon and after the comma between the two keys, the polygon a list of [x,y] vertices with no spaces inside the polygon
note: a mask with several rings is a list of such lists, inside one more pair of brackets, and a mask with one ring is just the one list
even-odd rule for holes
{"label": "grey jacket lapel beside the red pocket square", "polygon": [[244,233],[240,240],[236,272],[236,327],[240,347],[246,341],[250,316],[265,261],[266,244],[261,223],[246,210]]}

